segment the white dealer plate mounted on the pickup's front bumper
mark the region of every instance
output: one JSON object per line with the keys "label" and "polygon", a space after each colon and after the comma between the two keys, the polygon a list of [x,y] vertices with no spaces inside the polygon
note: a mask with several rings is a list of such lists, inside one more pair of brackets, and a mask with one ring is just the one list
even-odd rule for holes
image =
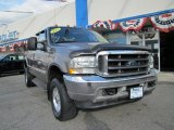
{"label": "white dealer plate mounted on the pickup's front bumper", "polygon": [[129,99],[139,99],[144,96],[142,87],[134,87],[129,89]]}

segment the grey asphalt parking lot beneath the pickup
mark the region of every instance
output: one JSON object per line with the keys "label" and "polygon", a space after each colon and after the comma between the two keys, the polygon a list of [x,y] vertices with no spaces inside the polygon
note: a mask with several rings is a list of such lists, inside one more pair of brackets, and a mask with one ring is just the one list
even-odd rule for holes
{"label": "grey asphalt parking lot beneath the pickup", "polygon": [[27,89],[23,75],[0,77],[0,130],[174,130],[174,74],[161,73],[153,93],[138,102],[79,110],[63,122],[41,88]]}

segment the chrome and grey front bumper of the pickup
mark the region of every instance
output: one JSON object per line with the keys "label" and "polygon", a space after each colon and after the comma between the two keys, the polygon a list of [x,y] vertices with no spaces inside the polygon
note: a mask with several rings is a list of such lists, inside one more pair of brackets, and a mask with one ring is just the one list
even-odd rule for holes
{"label": "chrome and grey front bumper of the pickup", "polygon": [[122,78],[102,78],[100,76],[71,76],[64,75],[64,83],[70,98],[77,102],[101,103],[128,99],[129,92],[117,91],[114,95],[103,95],[104,89],[122,88],[134,84],[144,84],[144,95],[151,92],[156,86],[148,87],[149,82],[157,81],[154,69],[144,76],[132,76]]}

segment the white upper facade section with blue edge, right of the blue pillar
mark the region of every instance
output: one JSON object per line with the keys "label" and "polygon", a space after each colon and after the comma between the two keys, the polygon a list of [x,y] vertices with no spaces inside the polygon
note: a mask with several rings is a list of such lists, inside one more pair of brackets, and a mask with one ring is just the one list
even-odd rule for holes
{"label": "white upper facade section with blue edge, right of the blue pillar", "polygon": [[174,12],[173,0],[88,0],[89,25],[97,21],[126,21]]}

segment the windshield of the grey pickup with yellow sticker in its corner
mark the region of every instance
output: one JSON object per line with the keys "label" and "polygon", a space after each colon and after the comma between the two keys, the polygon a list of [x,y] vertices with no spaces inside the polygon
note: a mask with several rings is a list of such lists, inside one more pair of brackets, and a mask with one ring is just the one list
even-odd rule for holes
{"label": "windshield of the grey pickup with yellow sticker in its corner", "polygon": [[53,43],[62,42],[108,42],[96,31],[83,28],[51,28],[50,40]]}

